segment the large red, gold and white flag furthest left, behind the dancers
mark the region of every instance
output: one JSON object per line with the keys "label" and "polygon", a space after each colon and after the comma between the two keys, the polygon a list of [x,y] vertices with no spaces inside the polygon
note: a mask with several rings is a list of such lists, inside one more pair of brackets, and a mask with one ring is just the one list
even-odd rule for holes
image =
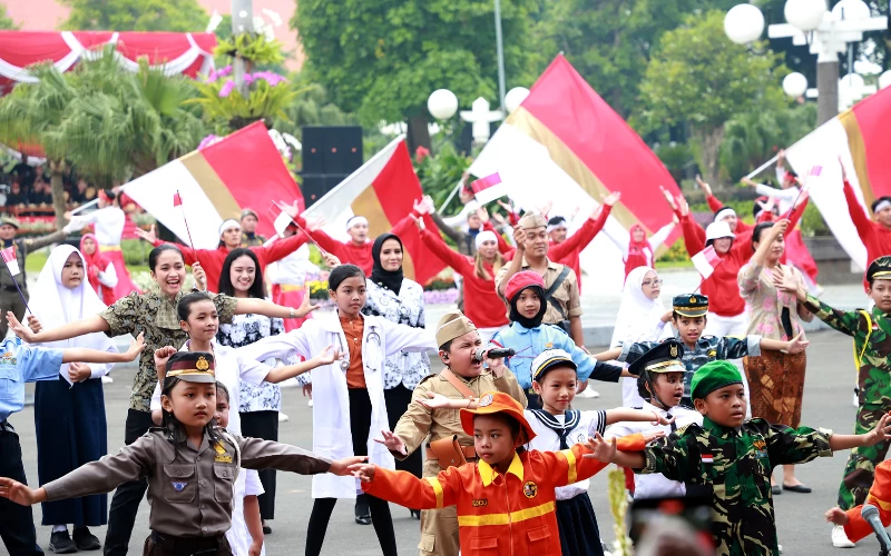
{"label": "large red, gold and white flag furthest left, behind the dancers", "polygon": [[[242,209],[263,214],[273,200],[303,198],[260,121],[130,181],[124,192],[190,245],[188,219],[198,249],[215,249],[219,225],[238,220]],[[257,232],[273,236],[272,219],[261,218]]]}

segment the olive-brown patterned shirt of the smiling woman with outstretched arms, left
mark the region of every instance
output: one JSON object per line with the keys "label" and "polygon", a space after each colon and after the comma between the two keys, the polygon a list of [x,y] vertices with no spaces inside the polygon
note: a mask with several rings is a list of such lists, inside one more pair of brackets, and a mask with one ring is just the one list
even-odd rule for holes
{"label": "olive-brown patterned shirt of the smiling woman with outstretched arms, left", "polygon": [[[139,355],[139,369],[133,379],[130,409],[146,413],[150,410],[151,394],[158,381],[155,350],[164,346],[179,349],[179,346],[188,339],[188,335],[179,328],[179,317],[176,316],[176,304],[183,295],[180,291],[176,299],[170,301],[158,291],[148,294],[134,291],[99,314],[108,322],[108,330],[105,334],[110,338],[125,334],[136,337],[139,332],[145,332],[146,348]],[[231,322],[237,299],[223,295],[212,297],[219,321]]]}

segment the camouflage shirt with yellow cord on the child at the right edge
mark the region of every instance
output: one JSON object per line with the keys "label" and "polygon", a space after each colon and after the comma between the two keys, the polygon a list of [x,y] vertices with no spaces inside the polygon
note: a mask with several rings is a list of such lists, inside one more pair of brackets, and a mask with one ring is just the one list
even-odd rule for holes
{"label": "camouflage shirt with yellow cord on the child at the right edge", "polygon": [[891,316],[878,307],[873,307],[872,312],[833,309],[810,295],[804,306],[832,328],[853,336],[860,405],[888,407],[891,404]]}

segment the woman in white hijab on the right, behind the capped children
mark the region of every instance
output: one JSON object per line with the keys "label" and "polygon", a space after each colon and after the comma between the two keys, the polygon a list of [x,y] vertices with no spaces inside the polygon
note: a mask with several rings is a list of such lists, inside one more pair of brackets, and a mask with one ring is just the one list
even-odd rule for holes
{"label": "woman in white hijab on the right, behind the capped children", "polygon": [[[638,341],[658,341],[663,337],[672,311],[666,312],[659,299],[660,294],[662,278],[653,268],[640,266],[628,272],[613,339],[609,341],[610,348]],[[623,378],[623,407],[643,407],[643,404],[644,399],[637,391],[637,379]]]}

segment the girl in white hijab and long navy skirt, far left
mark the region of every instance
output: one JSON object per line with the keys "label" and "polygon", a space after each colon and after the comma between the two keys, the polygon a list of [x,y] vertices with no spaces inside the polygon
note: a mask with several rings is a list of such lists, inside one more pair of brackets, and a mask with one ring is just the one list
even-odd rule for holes
{"label": "girl in white hijab and long navy skirt, far left", "polygon": [[[32,326],[56,328],[106,309],[88,285],[88,268],[75,247],[60,245],[50,252],[30,300],[38,321],[31,319]],[[117,351],[111,338],[101,332],[41,345]],[[106,455],[108,434],[101,377],[110,369],[111,365],[72,363],[59,368],[58,380],[36,385],[37,471],[41,485]],[[104,494],[43,503],[42,524],[52,527],[50,549],[56,553],[99,549],[99,539],[88,527],[106,523],[108,504]],[[74,539],[68,535],[69,524],[74,524]]]}

